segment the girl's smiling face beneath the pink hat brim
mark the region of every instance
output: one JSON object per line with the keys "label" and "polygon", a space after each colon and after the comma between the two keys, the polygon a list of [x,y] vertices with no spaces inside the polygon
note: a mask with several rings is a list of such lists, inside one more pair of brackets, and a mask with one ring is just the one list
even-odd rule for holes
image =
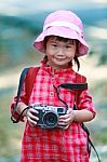
{"label": "girl's smiling face beneath the pink hat brim", "polygon": [[54,69],[64,69],[72,60],[76,54],[76,41],[70,39],[57,39],[52,36],[46,41],[48,64]]}

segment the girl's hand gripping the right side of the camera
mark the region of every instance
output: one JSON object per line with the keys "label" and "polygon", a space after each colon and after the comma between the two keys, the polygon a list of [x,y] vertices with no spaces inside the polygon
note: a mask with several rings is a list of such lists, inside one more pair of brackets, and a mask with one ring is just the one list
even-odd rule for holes
{"label": "girl's hand gripping the right side of the camera", "polygon": [[75,111],[68,109],[65,116],[61,116],[58,119],[58,125],[64,126],[64,130],[68,129],[70,123],[75,120]]}

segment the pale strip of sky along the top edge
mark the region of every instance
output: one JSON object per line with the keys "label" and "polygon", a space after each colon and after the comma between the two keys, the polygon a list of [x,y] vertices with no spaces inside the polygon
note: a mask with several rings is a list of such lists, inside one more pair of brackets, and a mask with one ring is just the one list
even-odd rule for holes
{"label": "pale strip of sky along the top edge", "polygon": [[[38,5],[37,5],[38,2]],[[59,9],[67,9],[68,6],[71,10],[83,8],[94,8],[95,5],[103,6],[107,4],[106,0],[0,0],[0,14],[3,15],[25,15],[32,14],[40,11],[52,11]],[[30,8],[29,8],[30,6]]]}

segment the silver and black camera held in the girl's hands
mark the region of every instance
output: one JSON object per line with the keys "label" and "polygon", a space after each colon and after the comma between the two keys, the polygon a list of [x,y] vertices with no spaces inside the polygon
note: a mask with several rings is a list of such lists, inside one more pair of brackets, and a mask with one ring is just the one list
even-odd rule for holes
{"label": "silver and black camera held in the girl's hands", "polygon": [[55,106],[38,106],[36,104],[32,106],[32,108],[39,112],[36,114],[39,118],[37,125],[40,125],[42,129],[63,127],[57,125],[58,117],[66,114],[67,108]]}

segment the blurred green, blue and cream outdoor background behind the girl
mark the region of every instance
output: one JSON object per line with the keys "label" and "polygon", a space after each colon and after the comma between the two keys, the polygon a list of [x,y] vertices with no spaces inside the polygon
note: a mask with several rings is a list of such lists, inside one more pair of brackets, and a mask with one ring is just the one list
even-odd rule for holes
{"label": "blurred green, blue and cream outdoor background behind the girl", "polygon": [[[88,123],[92,139],[107,162],[107,1],[106,0],[0,0],[0,162],[18,162],[25,123],[13,124],[10,105],[24,67],[40,64],[43,54],[32,46],[52,11],[67,9],[84,23],[88,56],[81,57],[80,73],[88,77],[97,117]],[[97,162],[92,153],[92,162]]]}

